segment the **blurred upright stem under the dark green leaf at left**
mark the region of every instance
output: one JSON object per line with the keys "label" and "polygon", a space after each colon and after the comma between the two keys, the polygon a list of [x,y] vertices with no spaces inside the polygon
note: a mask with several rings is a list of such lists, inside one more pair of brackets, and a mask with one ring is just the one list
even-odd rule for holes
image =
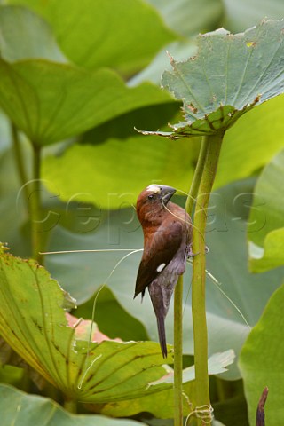
{"label": "blurred upright stem under the dark green leaf at left", "polygon": [[32,191],[29,194],[32,256],[39,264],[43,264],[43,256],[40,255],[43,246],[43,233],[41,229],[41,148],[33,145],[34,164],[33,164],[33,182]]}

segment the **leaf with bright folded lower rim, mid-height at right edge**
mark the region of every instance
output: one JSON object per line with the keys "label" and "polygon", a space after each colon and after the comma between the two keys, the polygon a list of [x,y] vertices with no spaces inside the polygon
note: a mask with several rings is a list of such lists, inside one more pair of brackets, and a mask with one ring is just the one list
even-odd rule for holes
{"label": "leaf with bright folded lower rim, mid-height at right edge", "polygon": [[[284,151],[276,155],[257,180],[249,221],[257,232],[248,232],[249,266],[263,272],[284,264]],[[249,230],[248,230],[249,231]]]}

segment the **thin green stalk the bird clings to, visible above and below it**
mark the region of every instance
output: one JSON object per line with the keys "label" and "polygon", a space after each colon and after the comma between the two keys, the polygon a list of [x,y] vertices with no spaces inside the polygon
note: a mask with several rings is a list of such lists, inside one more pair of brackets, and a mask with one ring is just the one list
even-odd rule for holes
{"label": "thin green stalk the bird clings to, visible above and below it", "polygon": [[[188,194],[185,210],[192,216],[194,201],[197,198],[209,139],[203,138],[198,156],[193,182]],[[175,398],[175,426],[183,424],[183,277],[179,277],[175,288],[174,298],[174,398]]]}

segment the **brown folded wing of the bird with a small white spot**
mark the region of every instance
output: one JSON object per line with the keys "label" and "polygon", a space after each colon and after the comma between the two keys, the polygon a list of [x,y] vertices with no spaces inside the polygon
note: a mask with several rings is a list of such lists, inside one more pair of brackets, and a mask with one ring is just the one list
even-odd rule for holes
{"label": "brown folded wing of the bird with a small white spot", "polygon": [[144,253],[138,269],[134,297],[142,293],[146,287],[163,271],[177,253],[183,238],[183,225],[178,221],[161,225],[146,241]]}

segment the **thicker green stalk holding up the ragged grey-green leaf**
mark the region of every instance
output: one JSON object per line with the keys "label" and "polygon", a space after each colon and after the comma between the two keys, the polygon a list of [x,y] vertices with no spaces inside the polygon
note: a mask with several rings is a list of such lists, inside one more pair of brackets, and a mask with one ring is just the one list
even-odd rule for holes
{"label": "thicker green stalk holding up the ragged grey-green leaf", "polygon": [[[193,338],[195,364],[195,397],[198,407],[209,406],[208,377],[208,337],[205,304],[205,229],[210,193],[217,172],[217,162],[223,140],[223,133],[204,137],[202,146],[206,146],[203,172],[198,190],[193,228]],[[204,147],[205,149],[205,147]],[[198,425],[211,424],[208,419],[198,418]]]}

